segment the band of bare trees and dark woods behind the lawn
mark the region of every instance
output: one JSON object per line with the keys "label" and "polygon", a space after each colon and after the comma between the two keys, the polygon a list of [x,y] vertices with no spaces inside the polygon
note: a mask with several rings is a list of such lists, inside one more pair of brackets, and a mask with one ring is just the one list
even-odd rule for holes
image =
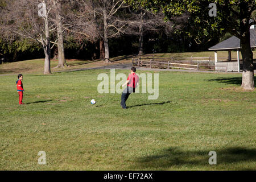
{"label": "band of bare trees and dark woods behind the lawn", "polygon": [[[38,15],[42,2],[46,16]],[[165,21],[163,13],[120,0],[0,0],[0,14],[0,56],[8,61],[46,57],[46,73],[51,58],[64,67],[65,59],[109,62],[110,56],[206,51],[221,37],[198,43],[190,14]]]}

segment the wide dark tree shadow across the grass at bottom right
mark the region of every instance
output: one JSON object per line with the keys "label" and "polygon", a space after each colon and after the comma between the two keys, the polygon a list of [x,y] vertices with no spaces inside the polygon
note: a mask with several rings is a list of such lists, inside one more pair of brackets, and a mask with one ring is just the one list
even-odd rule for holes
{"label": "wide dark tree shadow across the grass at bottom right", "polygon": [[[217,165],[230,164],[234,165],[239,162],[254,162],[256,160],[256,150],[243,147],[228,147],[216,151]],[[141,168],[170,168],[182,166],[210,166],[209,156],[210,150],[199,151],[182,151],[179,147],[168,148],[160,154],[144,156],[137,158],[136,166]],[[214,166],[217,166],[214,165]],[[227,168],[228,169],[228,168]],[[239,170],[255,170],[255,167],[240,168]]]}

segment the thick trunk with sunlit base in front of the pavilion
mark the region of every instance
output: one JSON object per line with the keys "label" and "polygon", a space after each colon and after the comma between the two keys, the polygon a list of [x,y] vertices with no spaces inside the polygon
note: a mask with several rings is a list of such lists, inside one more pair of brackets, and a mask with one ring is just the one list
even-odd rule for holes
{"label": "thick trunk with sunlit base in front of the pavilion", "polygon": [[243,60],[242,85],[243,89],[254,89],[253,51],[250,47],[250,30],[241,39],[241,54]]}

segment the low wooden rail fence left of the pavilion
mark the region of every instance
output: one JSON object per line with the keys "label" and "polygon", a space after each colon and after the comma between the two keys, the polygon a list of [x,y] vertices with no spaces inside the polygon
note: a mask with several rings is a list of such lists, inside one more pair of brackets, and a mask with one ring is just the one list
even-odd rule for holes
{"label": "low wooden rail fence left of the pavilion", "polygon": [[[195,57],[194,57],[195,58]],[[202,57],[200,57],[202,58]],[[190,70],[204,70],[204,71],[225,71],[227,72],[227,67],[225,65],[201,65],[197,64],[184,64],[184,63],[177,63],[177,61],[155,61],[154,59],[150,59],[148,57],[140,57],[136,59],[132,59],[133,65],[138,67],[148,67],[148,68],[163,68],[163,69],[170,69],[170,68],[177,68],[177,69],[190,69]],[[161,59],[161,58],[158,58]],[[162,58],[163,59],[163,58]],[[182,61],[183,62],[183,61]],[[214,67],[214,69],[202,69],[200,67]],[[225,67],[223,70],[216,70],[216,67]]]}

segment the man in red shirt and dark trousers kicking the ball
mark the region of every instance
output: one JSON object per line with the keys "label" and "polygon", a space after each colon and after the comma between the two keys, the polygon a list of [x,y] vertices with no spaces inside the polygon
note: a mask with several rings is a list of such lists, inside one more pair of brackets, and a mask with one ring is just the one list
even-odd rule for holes
{"label": "man in red shirt and dark trousers kicking the ball", "polygon": [[131,93],[135,92],[135,88],[137,88],[139,83],[139,77],[136,75],[136,68],[131,68],[131,74],[129,74],[127,81],[122,86],[125,86],[127,84],[127,87],[123,90],[122,96],[121,96],[121,106],[123,109],[126,109],[126,100],[129,97]]}

